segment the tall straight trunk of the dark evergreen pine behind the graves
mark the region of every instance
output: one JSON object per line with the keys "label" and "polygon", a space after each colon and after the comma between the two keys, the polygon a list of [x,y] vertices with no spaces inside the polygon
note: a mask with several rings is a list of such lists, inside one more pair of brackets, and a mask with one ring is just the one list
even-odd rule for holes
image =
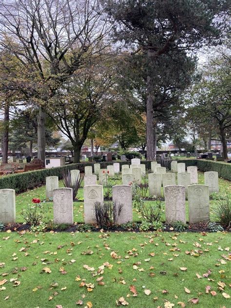
{"label": "tall straight trunk of the dark evergreen pine behind the graves", "polygon": [[[148,66],[152,62],[152,51],[148,50]],[[149,71],[149,70],[148,70]],[[154,134],[153,134],[153,78],[148,72],[147,76],[147,105],[146,105],[146,141],[147,141],[147,160],[154,160]]]}

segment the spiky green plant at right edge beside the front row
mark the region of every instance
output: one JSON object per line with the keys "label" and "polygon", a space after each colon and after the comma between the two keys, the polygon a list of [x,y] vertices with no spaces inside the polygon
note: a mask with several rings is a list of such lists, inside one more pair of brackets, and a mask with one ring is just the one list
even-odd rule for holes
{"label": "spiky green plant at right edge beside the front row", "polygon": [[226,191],[216,201],[216,206],[212,209],[213,216],[220,222],[221,225],[229,228],[231,225],[231,200]]}

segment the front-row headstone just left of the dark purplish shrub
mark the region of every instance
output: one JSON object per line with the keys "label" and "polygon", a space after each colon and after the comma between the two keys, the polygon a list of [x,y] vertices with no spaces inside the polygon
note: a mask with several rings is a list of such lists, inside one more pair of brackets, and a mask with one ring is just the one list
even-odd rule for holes
{"label": "front-row headstone just left of the dark purplish shrub", "polygon": [[103,187],[101,185],[89,185],[83,187],[84,198],[84,222],[96,224],[95,203],[103,204]]}

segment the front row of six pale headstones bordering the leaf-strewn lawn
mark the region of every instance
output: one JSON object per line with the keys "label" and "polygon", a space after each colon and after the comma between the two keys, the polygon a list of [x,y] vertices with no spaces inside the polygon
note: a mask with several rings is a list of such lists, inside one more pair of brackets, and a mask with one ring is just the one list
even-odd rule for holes
{"label": "front row of six pale headstones bordering the leaf-strewn lawn", "polygon": [[[84,191],[84,221],[87,224],[96,223],[95,204],[103,203],[103,186],[87,185]],[[133,220],[132,187],[116,185],[112,188],[113,202],[119,211],[117,223],[126,223]],[[53,191],[54,223],[73,224],[73,196],[71,188],[58,188]],[[3,223],[16,221],[15,190],[0,190],[0,221]],[[193,184],[188,186],[189,222],[197,223],[210,219],[209,186]],[[37,205],[35,205],[37,206]],[[165,215],[166,222],[182,221],[186,223],[185,187],[168,185],[165,187]]]}

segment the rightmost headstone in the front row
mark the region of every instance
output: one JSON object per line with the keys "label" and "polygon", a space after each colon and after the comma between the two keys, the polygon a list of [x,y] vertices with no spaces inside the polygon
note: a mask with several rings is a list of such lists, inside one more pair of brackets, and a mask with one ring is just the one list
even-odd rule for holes
{"label": "rightmost headstone in the front row", "polygon": [[210,220],[210,194],[207,185],[188,186],[189,223]]}

